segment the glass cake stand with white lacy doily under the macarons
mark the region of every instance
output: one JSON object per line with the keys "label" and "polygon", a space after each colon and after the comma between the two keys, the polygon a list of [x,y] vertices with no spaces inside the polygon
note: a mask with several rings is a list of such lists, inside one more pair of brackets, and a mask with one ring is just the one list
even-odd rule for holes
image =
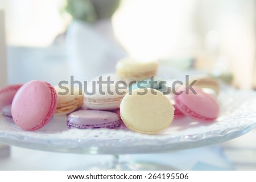
{"label": "glass cake stand with white lacy doily under the macarons", "polygon": [[[0,118],[0,142],[34,150],[80,154],[111,154],[109,168],[134,169],[119,162],[122,154],[149,154],[183,150],[220,143],[240,137],[256,126],[256,93],[241,92],[222,85],[218,102],[220,117],[213,123],[200,123],[189,118],[172,122],[168,129],[155,135],[134,133],[122,126],[109,129],[68,129],[66,117],[54,117],[38,131],[23,131],[15,123]],[[135,165],[136,166],[136,165]],[[137,164],[137,169],[163,169],[155,164]]]}

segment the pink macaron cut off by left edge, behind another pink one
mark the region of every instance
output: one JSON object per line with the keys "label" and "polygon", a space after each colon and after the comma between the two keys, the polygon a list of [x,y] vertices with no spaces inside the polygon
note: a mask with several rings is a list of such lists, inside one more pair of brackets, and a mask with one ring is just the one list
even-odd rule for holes
{"label": "pink macaron cut off by left edge, behind another pink one", "polygon": [[9,85],[5,88],[0,89],[0,110],[3,109],[4,106],[11,104],[13,102],[13,98],[16,92],[22,84]]}

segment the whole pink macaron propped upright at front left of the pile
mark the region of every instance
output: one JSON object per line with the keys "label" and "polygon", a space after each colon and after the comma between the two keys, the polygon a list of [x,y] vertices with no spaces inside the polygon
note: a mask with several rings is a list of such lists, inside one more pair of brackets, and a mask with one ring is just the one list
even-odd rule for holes
{"label": "whole pink macaron propped upright at front left of the pile", "polygon": [[57,94],[53,86],[33,80],[24,84],[15,94],[11,114],[20,128],[35,131],[47,125],[56,107]]}

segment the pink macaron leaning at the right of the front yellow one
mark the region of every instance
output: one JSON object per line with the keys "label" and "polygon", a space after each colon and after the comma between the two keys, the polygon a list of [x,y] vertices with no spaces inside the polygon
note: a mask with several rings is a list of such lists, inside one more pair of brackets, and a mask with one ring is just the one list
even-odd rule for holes
{"label": "pink macaron leaning at the right of the front yellow one", "polygon": [[220,108],[217,101],[202,89],[193,87],[196,94],[185,87],[180,88],[179,95],[174,96],[175,105],[182,113],[201,122],[212,122],[218,118]]}

